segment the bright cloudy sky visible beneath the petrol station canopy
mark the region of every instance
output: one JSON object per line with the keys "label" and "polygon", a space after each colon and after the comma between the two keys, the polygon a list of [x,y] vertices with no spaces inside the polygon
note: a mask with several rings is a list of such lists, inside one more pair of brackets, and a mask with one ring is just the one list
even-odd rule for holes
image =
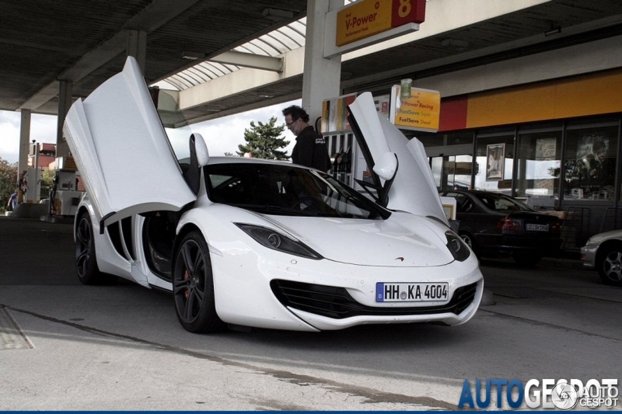
{"label": "bright cloudy sky visible beneath the petrol station canopy", "polygon": [[[225,152],[235,153],[238,150],[238,144],[244,144],[244,129],[250,127],[251,121],[266,123],[270,117],[276,116],[277,125],[285,124],[281,110],[293,104],[300,105],[300,99],[193,124],[192,131],[203,136],[207,142],[210,155],[224,155]],[[19,157],[20,116],[19,112],[0,111],[0,157],[10,163],[17,162]],[[288,154],[292,154],[295,144],[294,135],[285,129],[282,136],[290,141],[286,150]],[[56,117],[32,114],[30,141],[33,139],[37,142],[56,144]]]}

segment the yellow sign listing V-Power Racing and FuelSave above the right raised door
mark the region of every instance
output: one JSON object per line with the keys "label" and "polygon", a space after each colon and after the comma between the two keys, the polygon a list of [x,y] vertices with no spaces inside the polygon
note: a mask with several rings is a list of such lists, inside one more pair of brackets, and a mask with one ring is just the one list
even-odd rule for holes
{"label": "yellow sign listing V-Power Racing and FuelSave above the right raised door", "polygon": [[439,130],[439,114],[439,91],[411,88],[404,82],[391,88],[390,119],[396,127],[436,132]]}

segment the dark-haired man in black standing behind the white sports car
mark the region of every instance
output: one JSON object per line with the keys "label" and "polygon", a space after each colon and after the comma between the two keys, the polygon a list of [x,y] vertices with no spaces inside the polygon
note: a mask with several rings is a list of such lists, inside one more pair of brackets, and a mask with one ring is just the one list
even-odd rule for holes
{"label": "dark-haired man in black standing behind the white sports car", "polygon": [[296,136],[292,161],[322,172],[330,169],[330,157],[325,139],[309,125],[309,114],[300,106],[283,109],[285,125]]}

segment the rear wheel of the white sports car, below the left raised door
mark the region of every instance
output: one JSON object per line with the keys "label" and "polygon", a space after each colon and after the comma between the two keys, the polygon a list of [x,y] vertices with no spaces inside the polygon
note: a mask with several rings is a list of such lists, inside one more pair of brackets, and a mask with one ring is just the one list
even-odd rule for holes
{"label": "rear wheel of the white sports car, below the left raised door", "polygon": [[78,218],[76,229],[76,271],[78,280],[85,285],[110,285],[118,280],[117,276],[100,272],[95,253],[95,234],[88,212]]}

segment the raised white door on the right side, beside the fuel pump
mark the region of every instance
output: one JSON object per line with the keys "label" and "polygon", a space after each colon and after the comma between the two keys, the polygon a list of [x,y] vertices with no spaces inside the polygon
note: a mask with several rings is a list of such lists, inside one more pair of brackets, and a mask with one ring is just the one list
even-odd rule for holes
{"label": "raised white door on the right side, beside the fuel pump", "polygon": [[[407,139],[378,114],[369,92],[358,96],[348,109],[350,125],[371,169],[379,201],[384,201],[387,208],[432,216],[448,225],[421,142],[416,138]],[[399,170],[396,165],[392,178],[384,180],[379,168],[391,165],[389,154],[397,156]]]}

